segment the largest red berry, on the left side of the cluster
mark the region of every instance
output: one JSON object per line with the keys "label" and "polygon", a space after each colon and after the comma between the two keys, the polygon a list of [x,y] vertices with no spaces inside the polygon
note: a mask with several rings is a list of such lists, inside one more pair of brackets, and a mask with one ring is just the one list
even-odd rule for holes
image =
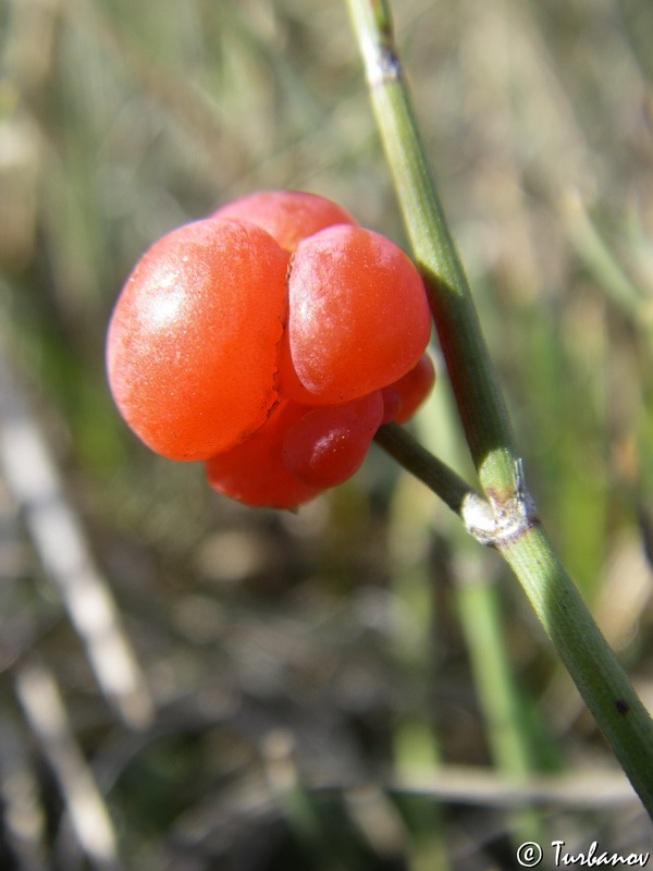
{"label": "largest red berry, on the left side of the cluster", "polygon": [[242,442],[276,401],[288,255],[258,226],[205,219],[137,263],[112,315],[107,366],[132,429],[172,459]]}

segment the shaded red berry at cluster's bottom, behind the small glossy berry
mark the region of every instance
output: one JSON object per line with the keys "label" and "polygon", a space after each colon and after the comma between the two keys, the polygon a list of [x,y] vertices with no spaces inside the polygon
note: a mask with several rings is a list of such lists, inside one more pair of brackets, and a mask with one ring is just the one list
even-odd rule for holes
{"label": "shaded red berry at cluster's bottom, behind the small glossy berry", "polygon": [[286,433],[305,414],[300,405],[280,403],[250,439],[207,461],[211,487],[252,506],[295,508],[313,499],[319,490],[295,478],[282,462]]}

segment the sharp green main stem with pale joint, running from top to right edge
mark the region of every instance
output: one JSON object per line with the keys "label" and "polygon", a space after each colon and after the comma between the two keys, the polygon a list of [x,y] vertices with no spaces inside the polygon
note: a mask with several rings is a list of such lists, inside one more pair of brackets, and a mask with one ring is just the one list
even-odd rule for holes
{"label": "sharp green main stem with pale joint, running from top to right edge", "polygon": [[[348,7],[404,220],[429,292],[471,456],[491,507],[490,515],[483,516],[482,511],[477,512],[483,506],[475,503],[473,513],[466,516],[464,500],[459,513],[470,531],[496,547],[512,566],[653,817],[653,722],[554,553],[526,491],[505,403],[421,145],[393,44],[389,8],[383,0],[348,0]],[[382,436],[379,441],[384,439]],[[419,463],[423,461],[420,451]],[[440,477],[436,461],[434,468]],[[420,477],[424,480],[428,476]]]}

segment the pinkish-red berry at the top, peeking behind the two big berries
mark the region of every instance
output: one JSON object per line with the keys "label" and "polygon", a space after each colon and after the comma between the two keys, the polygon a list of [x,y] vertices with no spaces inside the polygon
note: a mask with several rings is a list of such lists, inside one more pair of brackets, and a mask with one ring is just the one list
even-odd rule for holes
{"label": "pinkish-red berry at the top, peeking behind the two big berries", "polygon": [[332,224],[355,224],[336,203],[304,191],[261,191],[221,206],[213,217],[236,218],[262,226],[282,248],[294,252],[306,236]]}

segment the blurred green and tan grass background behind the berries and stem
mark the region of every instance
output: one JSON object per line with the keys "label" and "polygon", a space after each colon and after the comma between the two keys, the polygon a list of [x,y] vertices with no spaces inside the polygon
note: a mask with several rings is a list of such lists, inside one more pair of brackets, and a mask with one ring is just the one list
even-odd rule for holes
{"label": "blurred green and tan grass background behind the berries and stem", "polygon": [[[653,5],[395,5],[540,514],[653,702]],[[248,510],[108,394],[113,302],[176,224],[295,187],[405,244],[344,3],[0,0],[0,866],[650,846],[515,580],[379,449]],[[445,372],[415,429],[469,475]]]}

